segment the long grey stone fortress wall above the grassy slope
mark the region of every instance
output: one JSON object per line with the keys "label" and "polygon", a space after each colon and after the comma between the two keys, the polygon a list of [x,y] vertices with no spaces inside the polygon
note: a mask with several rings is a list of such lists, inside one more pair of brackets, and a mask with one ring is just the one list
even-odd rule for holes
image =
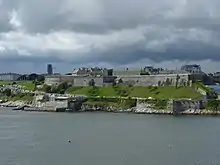
{"label": "long grey stone fortress wall above the grassy slope", "polygon": [[[117,76],[117,79],[121,79],[125,85],[132,86],[175,86],[177,76],[179,76],[179,84],[183,85],[184,83],[188,83],[189,74],[119,75]],[[73,86],[89,86],[89,82],[92,79],[95,82],[95,86],[106,86],[104,81],[106,77],[81,77],[66,75],[46,77],[45,84],[53,85],[68,82],[73,84]]]}

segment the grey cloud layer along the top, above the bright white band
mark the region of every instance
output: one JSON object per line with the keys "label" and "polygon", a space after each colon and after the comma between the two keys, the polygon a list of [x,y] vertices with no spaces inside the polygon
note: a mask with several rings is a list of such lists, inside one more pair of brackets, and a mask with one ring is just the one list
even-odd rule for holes
{"label": "grey cloud layer along the top, above the bright white band", "polygon": [[217,0],[3,0],[3,4],[7,8],[4,13],[12,9],[18,11],[29,32],[74,30],[104,33],[155,23],[192,27],[212,26],[210,21],[220,21],[216,19],[220,6]]}

